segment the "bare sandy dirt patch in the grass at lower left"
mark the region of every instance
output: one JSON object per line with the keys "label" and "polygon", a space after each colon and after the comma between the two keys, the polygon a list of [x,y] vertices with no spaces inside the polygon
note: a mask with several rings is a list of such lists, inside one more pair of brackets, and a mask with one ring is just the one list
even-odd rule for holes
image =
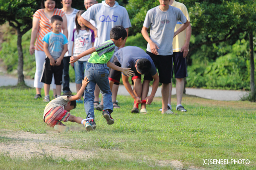
{"label": "bare sandy dirt patch in the grass at lower left", "polygon": [[[2,130],[1,130],[2,131]],[[95,153],[88,150],[74,150],[65,147],[65,143],[71,140],[61,140],[56,135],[57,132],[47,134],[33,134],[23,131],[3,130],[1,135],[8,142],[0,143],[0,152],[10,156],[22,155],[25,158],[31,158],[35,155],[65,156],[67,159],[87,159],[88,156],[94,156]]]}

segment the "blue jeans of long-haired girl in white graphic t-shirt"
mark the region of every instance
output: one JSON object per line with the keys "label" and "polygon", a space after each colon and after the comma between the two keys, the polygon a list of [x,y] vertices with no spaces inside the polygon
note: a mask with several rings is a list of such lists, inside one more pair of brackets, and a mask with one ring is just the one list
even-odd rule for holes
{"label": "blue jeans of long-haired girl in white graphic t-shirt", "polygon": [[86,68],[87,61],[77,61],[74,63],[76,84],[82,84],[84,79],[84,69]]}

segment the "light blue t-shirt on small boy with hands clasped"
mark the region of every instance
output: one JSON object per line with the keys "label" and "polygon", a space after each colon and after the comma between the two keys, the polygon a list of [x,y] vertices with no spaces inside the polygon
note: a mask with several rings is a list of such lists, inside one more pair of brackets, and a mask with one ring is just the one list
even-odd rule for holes
{"label": "light blue t-shirt on small boy with hands clasped", "polygon": [[54,60],[61,56],[64,45],[68,43],[64,34],[55,34],[53,32],[47,33],[43,41],[48,44],[48,50]]}

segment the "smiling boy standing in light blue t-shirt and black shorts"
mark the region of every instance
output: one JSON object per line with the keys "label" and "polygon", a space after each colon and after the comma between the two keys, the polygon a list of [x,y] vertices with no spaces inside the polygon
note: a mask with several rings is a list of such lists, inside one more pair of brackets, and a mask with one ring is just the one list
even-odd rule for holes
{"label": "smiling boy standing in light blue t-shirt and black shorts", "polygon": [[46,34],[43,38],[44,52],[47,56],[45,59],[44,73],[41,82],[44,82],[44,102],[49,102],[49,90],[54,75],[57,97],[61,96],[63,57],[67,52],[67,37],[60,33],[62,28],[62,18],[54,15],[51,18],[52,32]]}

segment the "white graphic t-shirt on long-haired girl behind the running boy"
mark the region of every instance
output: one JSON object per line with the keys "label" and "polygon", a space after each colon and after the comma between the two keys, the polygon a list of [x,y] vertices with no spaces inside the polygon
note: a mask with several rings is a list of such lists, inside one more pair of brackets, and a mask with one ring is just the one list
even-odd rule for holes
{"label": "white graphic t-shirt on long-haired girl behind the running boy", "polygon": [[[88,31],[86,29],[80,29],[79,32],[74,29],[72,41],[74,42],[73,56],[77,56],[82,52],[88,50],[89,48],[93,47],[92,42],[94,42],[94,32],[91,29]],[[88,61],[89,58],[90,54],[82,57],[78,61]]]}

